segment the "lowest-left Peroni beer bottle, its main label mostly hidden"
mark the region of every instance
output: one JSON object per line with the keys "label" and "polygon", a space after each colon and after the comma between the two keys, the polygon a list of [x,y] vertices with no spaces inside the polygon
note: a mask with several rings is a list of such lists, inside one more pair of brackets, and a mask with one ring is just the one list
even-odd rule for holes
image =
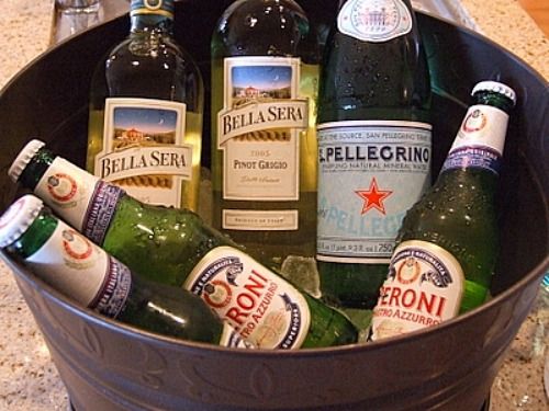
{"label": "lowest-left Peroni beer bottle, its main label mostly hidden", "polygon": [[0,248],[75,302],[139,329],[249,347],[195,295],[147,282],[25,195],[0,217]]}

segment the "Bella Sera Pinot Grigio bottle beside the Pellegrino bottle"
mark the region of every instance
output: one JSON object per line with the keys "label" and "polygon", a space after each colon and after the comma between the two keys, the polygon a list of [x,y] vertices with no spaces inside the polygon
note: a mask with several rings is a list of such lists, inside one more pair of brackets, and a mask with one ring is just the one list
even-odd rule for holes
{"label": "Bella Sera Pinot Grigio bottle beside the Pellegrino bottle", "polygon": [[314,28],[293,0],[237,0],[212,37],[213,226],[260,258],[314,255]]}

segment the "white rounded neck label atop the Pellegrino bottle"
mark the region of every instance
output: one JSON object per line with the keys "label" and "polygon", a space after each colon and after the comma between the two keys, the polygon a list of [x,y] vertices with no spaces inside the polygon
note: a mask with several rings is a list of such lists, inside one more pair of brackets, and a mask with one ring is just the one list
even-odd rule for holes
{"label": "white rounded neck label atop the Pellegrino bottle", "polygon": [[401,0],[349,0],[337,16],[339,32],[371,43],[405,35],[412,23],[411,11]]}

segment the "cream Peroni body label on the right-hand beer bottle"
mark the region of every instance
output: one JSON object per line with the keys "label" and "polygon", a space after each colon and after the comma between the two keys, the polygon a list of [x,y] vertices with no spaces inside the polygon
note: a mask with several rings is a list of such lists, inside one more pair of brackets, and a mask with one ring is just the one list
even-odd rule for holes
{"label": "cream Peroni body label on the right-hand beer bottle", "polygon": [[456,317],[464,289],[464,274],[456,258],[426,241],[401,243],[373,309],[371,339],[436,326]]}

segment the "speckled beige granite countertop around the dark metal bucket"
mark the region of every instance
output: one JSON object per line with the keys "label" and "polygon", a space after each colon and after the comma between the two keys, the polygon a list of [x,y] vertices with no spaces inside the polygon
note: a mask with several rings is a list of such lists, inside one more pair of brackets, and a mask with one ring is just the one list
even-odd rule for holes
{"label": "speckled beige granite countertop around the dark metal bucket", "polygon": [[[54,10],[53,0],[0,0],[0,4],[1,88],[49,46]],[[516,0],[461,0],[461,5],[463,23],[549,79],[549,39]],[[547,293],[538,298],[506,353],[492,390],[494,411],[547,410],[542,380],[544,366],[549,372],[548,300]],[[0,327],[0,410],[67,410],[65,387],[12,273],[1,261]]]}

